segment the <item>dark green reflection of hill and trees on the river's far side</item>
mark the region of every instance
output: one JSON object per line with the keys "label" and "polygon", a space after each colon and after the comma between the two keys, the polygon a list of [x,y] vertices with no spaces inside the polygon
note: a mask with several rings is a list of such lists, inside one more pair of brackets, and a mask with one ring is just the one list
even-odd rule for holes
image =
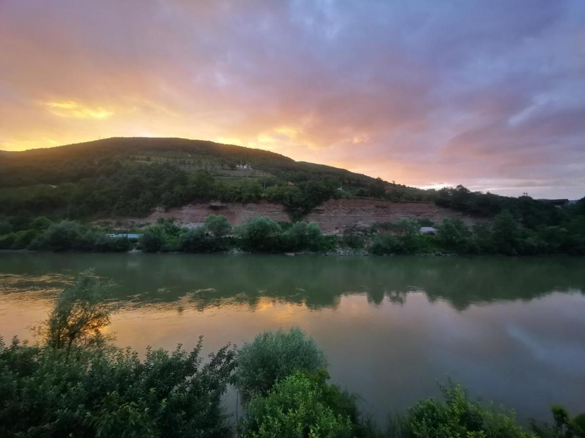
{"label": "dark green reflection of hill and trees on the river's far side", "polygon": [[[14,254],[0,274],[73,275],[95,267],[119,285],[129,305],[176,303],[198,310],[274,303],[335,308],[342,296],[364,294],[404,304],[412,291],[457,310],[470,304],[531,300],[552,291],[585,290],[583,259],[509,257],[326,257],[278,255]],[[67,271],[64,270],[67,267]]]}

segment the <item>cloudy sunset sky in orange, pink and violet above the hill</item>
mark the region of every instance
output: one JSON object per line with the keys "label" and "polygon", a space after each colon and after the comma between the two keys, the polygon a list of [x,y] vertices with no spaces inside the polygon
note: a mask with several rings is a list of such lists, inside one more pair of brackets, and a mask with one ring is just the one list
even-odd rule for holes
{"label": "cloudy sunset sky in orange, pink and violet above the hill", "polygon": [[0,150],[135,136],[579,199],[585,1],[0,0]]}

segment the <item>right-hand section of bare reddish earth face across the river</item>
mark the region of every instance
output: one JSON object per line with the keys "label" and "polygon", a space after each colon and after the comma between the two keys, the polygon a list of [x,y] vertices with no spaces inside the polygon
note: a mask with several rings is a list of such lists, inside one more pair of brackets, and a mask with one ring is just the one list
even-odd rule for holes
{"label": "right-hand section of bare reddish earth face across the river", "polygon": [[434,223],[444,218],[460,218],[467,225],[474,223],[469,215],[439,207],[432,202],[391,202],[374,199],[331,199],[311,211],[305,220],[315,221],[326,234],[335,234],[350,225],[370,226],[376,222],[401,219],[428,219]]}

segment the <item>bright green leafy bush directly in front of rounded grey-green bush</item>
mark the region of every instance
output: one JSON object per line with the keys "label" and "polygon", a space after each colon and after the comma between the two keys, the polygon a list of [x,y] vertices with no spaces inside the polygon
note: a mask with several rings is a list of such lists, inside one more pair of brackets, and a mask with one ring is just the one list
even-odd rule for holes
{"label": "bright green leafy bush directly in front of rounded grey-green bush", "polygon": [[332,409],[339,395],[325,377],[297,372],[279,381],[266,397],[254,398],[242,422],[245,437],[353,437],[349,416]]}

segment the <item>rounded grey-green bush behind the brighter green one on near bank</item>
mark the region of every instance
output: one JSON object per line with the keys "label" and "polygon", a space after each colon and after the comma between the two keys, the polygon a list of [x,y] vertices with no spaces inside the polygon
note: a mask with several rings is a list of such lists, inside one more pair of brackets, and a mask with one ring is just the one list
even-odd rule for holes
{"label": "rounded grey-green bush behind the brighter green one on near bank", "polygon": [[238,350],[235,383],[246,402],[266,394],[277,380],[294,371],[314,371],[326,366],[323,350],[301,329],[266,331]]}

